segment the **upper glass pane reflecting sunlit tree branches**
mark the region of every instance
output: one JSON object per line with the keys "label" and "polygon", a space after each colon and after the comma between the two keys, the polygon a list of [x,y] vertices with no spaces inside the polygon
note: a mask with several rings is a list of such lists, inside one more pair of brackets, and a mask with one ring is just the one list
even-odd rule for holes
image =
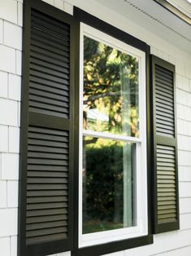
{"label": "upper glass pane reflecting sunlit tree branches", "polygon": [[139,136],[136,57],[84,38],[84,129]]}

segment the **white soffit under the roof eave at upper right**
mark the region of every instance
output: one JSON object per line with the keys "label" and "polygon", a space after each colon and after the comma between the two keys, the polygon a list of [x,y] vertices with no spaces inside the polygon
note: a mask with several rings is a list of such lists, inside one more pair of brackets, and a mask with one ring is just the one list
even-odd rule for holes
{"label": "white soffit under the roof eave at upper right", "polygon": [[103,6],[191,54],[191,26],[153,0],[97,0]]}

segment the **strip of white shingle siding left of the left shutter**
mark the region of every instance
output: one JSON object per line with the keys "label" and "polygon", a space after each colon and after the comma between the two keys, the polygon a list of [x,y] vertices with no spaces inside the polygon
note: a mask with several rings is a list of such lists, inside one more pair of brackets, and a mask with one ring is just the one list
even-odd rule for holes
{"label": "strip of white shingle siding left of the left shutter", "polygon": [[0,255],[17,256],[23,5],[0,1]]}

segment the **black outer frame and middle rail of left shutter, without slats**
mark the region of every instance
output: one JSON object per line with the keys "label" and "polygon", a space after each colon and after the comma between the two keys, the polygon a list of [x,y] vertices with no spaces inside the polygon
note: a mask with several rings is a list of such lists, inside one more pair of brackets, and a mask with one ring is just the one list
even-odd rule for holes
{"label": "black outer frame and middle rail of left shutter, without slats", "polygon": [[[40,113],[29,112],[29,68],[30,68],[30,37],[31,37],[31,10],[51,16],[55,20],[69,24],[70,38],[70,114],[69,119],[46,116]],[[19,192],[19,222],[18,222],[18,255],[20,256],[42,256],[56,254],[73,248],[73,173],[74,173],[74,95],[76,85],[76,56],[78,53],[79,22],[71,15],[63,13],[57,8],[51,7],[39,0],[24,1],[24,33],[23,33],[23,60],[22,60],[22,101],[21,101],[21,130],[20,130],[20,192]],[[77,68],[78,70],[78,68]],[[78,73],[78,71],[77,71]],[[69,183],[68,183],[68,234],[66,239],[57,241],[39,242],[26,244],[26,192],[27,192],[27,164],[28,164],[28,126],[39,126],[58,130],[69,130]],[[50,185],[51,186],[51,185]]]}

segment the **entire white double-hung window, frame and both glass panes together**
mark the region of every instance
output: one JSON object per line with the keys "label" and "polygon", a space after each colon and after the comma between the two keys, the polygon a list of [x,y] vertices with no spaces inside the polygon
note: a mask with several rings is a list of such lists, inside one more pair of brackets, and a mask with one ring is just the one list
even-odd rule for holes
{"label": "entire white double-hung window, frame and both glass panes together", "polygon": [[[94,47],[94,50],[92,47],[90,47],[91,51],[88,50],[89,44]],[[100,60],[103,49],[109,52],[104,53],[105,61]],[[145,53],[85,24],[81,24],[80,50],[79,245],[83,247],[147,234],[147,183]],[[94,60],[90,61],[91,58]],[[126,62],[121,61],[123,58]],[[103,67],[98,68],[96,60],[101,61]],[[110,78],[112,72],[109,70],[112,67],[108,67],[112,64],[115,64],[118,72],[113,75],[113,81],[112,77]],[[96,72],[93,68],[97,69]],[[133,68],[134,73],[132,73]],[[106,75],[110,74],[105,76],[106,79],[102,76],[104,70]],[[106,83],[107,87],[104,88],[102,83]],[[115,100],[112,98],[113,92],[116,94]],[[111,106],[110,111],[113,111],[113,120],[110,117],[108,105]],[[132,110],[134,110],[134,116],[132,116]],[[133,117],[135,117],[134,120]],[[112,121],[115,126],[112,126]],[[118,127],[116,127],[117,121]],[[132,129],[133,125],[134,129]],[[107,197],[110,193],[112,194],[109,199],[112,201],[112,207],[109,213],[110,218],[108,218],[108,214],[100,211],[96,213],[96,201],[102,201],[103,197],[93,196],[95,190],[93,191],[89,181],[92,179],[92,173],[98,170],[98,166],[102,166],[100,157],[97,157],[97,163],[95,161],[96,152],[102,154],[102,150],[111,151],[112,147],[115,148],[111,156],[110,166],[112,167],[107,171],[102,168],[102,174],[98,174],[100,177],[93,178],[95,183],[102,183],[104,175],[112,177],[112,185],[110,184],[109,190],[106,191]],[[119,152],[117,148],[120,148]],[[95,161],[92,166],[90,165],[91,167],[89,167],[90,155]],[[115,170],[121,176],[119,182],[114,179],[116,174],[112,170],[117,166],[115,157],[120,162],[120,168]],[[119,207],[115,205],[117,185],[121,191]],[[100,187],[102,189],[102,186]],[[91,190],[92,195],[89,193]],[[102,192],[104,194],[104,191],[99,194]],[[90,200],[91,197],[93,201]],[[108,201],[106,203],[108,204]],[[93,204],[95,205],[94,216]]]}

